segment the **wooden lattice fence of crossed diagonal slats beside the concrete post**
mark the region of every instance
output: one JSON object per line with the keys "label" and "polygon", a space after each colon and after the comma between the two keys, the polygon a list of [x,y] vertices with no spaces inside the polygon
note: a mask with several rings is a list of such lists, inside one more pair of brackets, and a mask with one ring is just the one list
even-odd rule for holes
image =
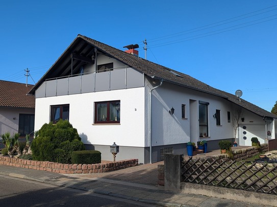
{"label": "wooden lattice fence of crossed diagonal slats beside the concrete post", "polygon": [[184,182],[277,194],[277,165],[192,157],[182,162]]}

